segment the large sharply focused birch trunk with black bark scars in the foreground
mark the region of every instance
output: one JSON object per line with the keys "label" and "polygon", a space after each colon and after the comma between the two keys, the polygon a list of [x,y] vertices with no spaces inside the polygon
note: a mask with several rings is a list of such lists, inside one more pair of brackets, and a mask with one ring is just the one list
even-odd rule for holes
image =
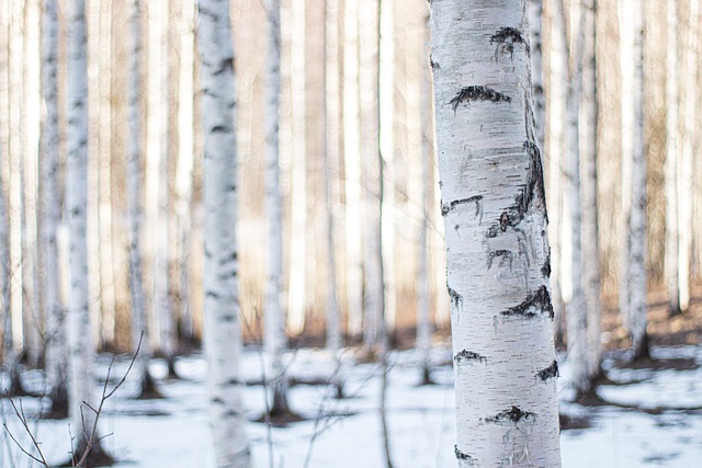
{"label": "large sharply focused birch trunk with black bark scars in the foreground", "polygon": [[529,116],[525,5],[444,0],[432,2],[431,12],[455,455],[463,467],[559,467],[547,216]]}

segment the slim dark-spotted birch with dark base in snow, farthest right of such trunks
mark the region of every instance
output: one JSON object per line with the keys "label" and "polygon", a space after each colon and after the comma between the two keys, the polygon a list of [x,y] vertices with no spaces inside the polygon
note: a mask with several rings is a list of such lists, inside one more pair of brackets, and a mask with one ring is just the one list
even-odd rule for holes
{"label": "slim dark-spotted birch with dark base in snow, farthest right of such trunks", "polygon": [[644,2],[633,1],[630,20],[633,25],[634,44],[632,59],[632,107],[623,110],[633,116],[633,152],[631,214],[627,238],[631,246],[629,259],[629,319],[627,328],[632,340],[634,358],[648,357],[648,335],[646,333],[646,153],[644,151]]}

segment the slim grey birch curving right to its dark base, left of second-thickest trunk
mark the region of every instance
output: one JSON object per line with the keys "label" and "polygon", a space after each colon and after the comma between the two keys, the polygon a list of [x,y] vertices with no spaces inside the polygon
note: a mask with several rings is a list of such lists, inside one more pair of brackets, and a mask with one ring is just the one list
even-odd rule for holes
{"label": "slim grey birch curving right to its dark base, left of second-thickest trunk", "polygon": [[129,28],[132,55],[129,57],[129,142],[127,148],[127,212],[129,217],[129,295],[132,299],[132,347],[140,351],[136,362],[141,397],[154,395],[154,380],[149,374],[151,346],[146,319],[144,272],[141,269],[141,158],[143,158],[143,107],[141,107],[141,1],[132,0]]}

